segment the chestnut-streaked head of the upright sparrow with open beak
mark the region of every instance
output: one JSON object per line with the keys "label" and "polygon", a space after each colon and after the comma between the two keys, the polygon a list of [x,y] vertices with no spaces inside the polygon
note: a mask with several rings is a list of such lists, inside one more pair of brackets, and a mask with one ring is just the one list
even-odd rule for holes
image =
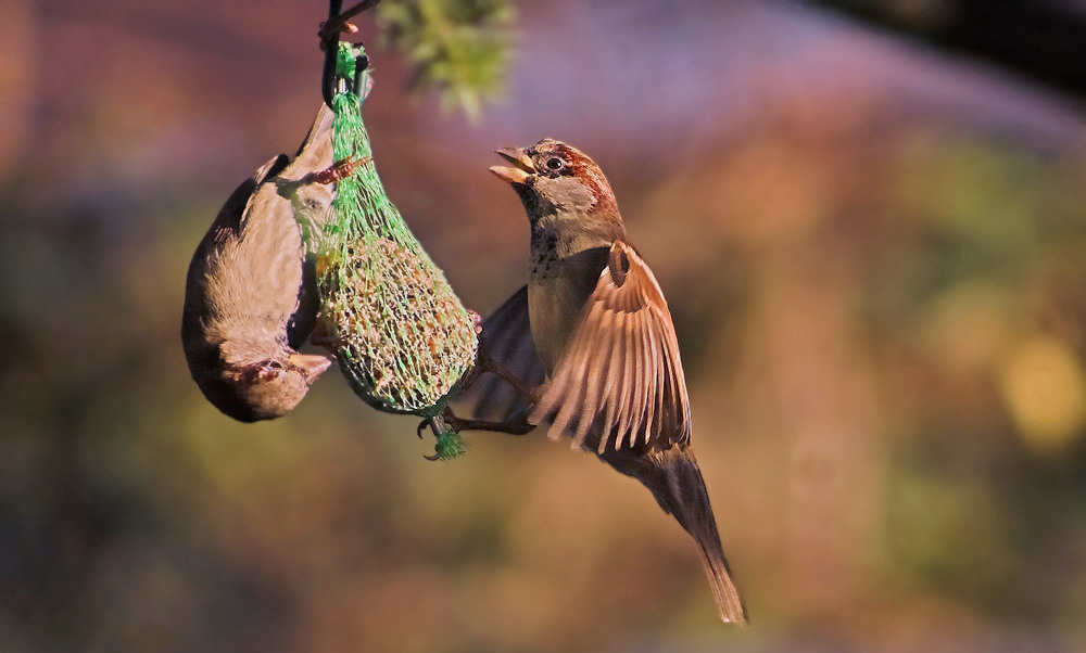
{"label": "chestnut-streaked head of the upright sparrow with open beak", "polygon": [[490,171],[513,185],[533,222],[557,212],[584,217],[618,218],[618,205],[607,178],[580,150],[554,139],[528,148],[503,148],[498,155],[513,167]]}

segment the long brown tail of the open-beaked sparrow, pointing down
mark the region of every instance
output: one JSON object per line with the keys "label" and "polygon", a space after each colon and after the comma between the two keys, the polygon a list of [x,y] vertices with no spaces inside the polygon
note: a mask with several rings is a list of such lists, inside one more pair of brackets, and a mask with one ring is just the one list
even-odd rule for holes
{"label": "long brown tail of the open-beaked sparrow, pointing down", "polygon": [[618,457],[604,454],[602,458],[623,474],[641,481],[652,490],[660,508],[674,516],[694,538],[721,620],[745,624],[746,609],[732,582],[728,560],[720,546],[717,521],[709,505],[709,495],[693,450],[674,446],[667,451],[635,458],[621,453]]}

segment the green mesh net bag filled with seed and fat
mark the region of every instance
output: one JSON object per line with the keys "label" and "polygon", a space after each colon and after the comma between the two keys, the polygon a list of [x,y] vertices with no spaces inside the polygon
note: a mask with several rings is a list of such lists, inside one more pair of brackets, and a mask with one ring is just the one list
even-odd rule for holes
{"label": "green mesh net bag filled with seed and fat", "polygon": [[[332,151],[337,161],[364,163],[339,181],[332,215],[314,247],[321,337],[367,404],[433,418],[475,362],[475,319],[377,176],[362,123],[359,92],[365,95],[369,75],[356,75],[362,53],[361,46],[340,43]],[[439,434],[439,457],[458,451],[455,434]]]}

